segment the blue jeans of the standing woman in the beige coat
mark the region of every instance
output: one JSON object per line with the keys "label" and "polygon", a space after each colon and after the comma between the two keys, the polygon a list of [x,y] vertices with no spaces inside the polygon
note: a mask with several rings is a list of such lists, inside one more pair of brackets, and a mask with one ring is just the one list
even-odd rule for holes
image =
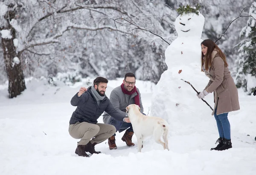
{"label": "blue jeans of the standing woman in the beige coat", "polygon": [[220,138],[230,139],[230,123],[227,118],[228,112],[224,114],[217,115],[216,110],[214,113],[214,117],[217,123],[218,132]]}

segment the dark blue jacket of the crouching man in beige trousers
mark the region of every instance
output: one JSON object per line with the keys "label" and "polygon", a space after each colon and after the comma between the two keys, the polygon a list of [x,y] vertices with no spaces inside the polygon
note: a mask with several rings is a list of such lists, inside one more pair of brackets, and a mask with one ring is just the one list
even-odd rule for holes
{"label": "dark blue jacket of the crouching man in beige trousers", "polygon": [[123,121],[123,118],[125,118],[125,113],[121,113],[114,109],[107,96],[105,96],[105,98],[101,100],[98,105],[90,88],[91,87],[89,87],[87,91],[84,92],[80,97],[78,97],[78,93],[76,93],[76,95],[74,95],[74,97],[71,99],[71,105],[77,106],[77,108],[70,118],[70,124],[75,124],[78,121],[80,123],[85,121],[96,124],[98,122],[97,119],[104,111],[108,112],[108,114],[116,120]]}

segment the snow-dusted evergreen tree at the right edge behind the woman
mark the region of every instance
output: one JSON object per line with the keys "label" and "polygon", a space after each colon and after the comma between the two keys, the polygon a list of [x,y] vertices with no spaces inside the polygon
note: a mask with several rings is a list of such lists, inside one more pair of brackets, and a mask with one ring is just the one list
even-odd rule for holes
{"label": "snow-dusted evergreen tree at the right edge behind the woman", "polygon": [[251,17],[240,33],[239,59],[235,64],[237,66],[237,86],[251,94],[256,89],[256,2],[250,6],[248,16]]}

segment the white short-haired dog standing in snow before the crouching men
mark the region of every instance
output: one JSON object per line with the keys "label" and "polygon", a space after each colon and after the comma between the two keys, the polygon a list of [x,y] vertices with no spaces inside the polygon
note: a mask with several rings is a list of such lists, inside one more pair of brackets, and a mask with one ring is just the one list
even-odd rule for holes
{"label": "white short-haired dog standing in snow before the crouching men", "polygon": [[[138,152],[141,152],[143,139],[147,136],[154,135],[154,140],[163,146],[163,149],[168,149],[168,123],[163,118],[150,117],[140,113],[140,107],[136,104],[130,104],[126,107],[129,118],[134,130],[134,134],[138,141]],[[163,136],[163,141],[161,137]]]}

